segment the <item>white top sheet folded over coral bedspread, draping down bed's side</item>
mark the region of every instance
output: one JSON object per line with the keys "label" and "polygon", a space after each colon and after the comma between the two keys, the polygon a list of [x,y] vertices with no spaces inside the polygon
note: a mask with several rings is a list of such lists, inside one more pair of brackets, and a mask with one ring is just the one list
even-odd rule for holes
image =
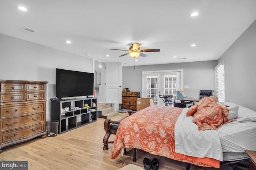
{"label": "white top sheet folded over coral bedspread, draping down bed's side", "polygon": [[193,117],[186,117],[184,108],[175,127],[175,152],[198,158],[214,158],[223,161],[222,147],[216,130],[199,131]]}

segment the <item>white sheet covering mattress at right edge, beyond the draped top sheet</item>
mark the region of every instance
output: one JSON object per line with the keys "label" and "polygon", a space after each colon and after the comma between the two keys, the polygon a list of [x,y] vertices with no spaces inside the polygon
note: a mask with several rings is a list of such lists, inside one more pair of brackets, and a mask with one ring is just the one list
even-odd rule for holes
{"label": "white sheet covering mattress at right edge, beyond the draped top sheet", "polygon": [[[237,106],[224,102],[227,106]],[[217,129],[223,152],[256,151],[256,111],[238,105],[237,121]]]}

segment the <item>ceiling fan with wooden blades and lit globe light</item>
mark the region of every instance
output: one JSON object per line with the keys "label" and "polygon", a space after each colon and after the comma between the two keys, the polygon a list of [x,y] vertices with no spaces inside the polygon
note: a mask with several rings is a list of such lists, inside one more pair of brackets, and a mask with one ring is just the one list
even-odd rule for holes
{"label": "ceiling fan with wooden blades and lit globe light", "polygon": [[[110,49],[110,50],[119,50],[119,49]],[[125,55],[130,55],[133,58],[138,57],[139,55],[142,57],[147,57],[148,55],[142,53],[142,52],[159,52],[160,49],[145,49],[145,50],[140,50],[140,44],[138,43],[133,43],[132,46],[129,47],[129,50],[121,50],[121,51],[128,51],[129,53],[120,55],[119,57],[123,57]]]}

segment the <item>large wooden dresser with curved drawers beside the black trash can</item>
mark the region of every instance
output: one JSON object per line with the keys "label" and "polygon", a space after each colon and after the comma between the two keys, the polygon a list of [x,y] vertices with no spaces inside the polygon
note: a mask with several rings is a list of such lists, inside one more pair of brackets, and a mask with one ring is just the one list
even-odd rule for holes
{"label": "large wooden dresser with curved drawers beside the black trash can", "polygon": [[0,80],[0,152],[34,137],[46,137],[46,84]]}

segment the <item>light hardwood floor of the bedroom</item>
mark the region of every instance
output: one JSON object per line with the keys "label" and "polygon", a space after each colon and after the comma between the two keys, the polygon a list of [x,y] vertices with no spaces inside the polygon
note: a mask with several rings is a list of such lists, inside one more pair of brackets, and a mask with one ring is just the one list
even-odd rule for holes
{"label": "light hardwood floor of the bedroom", "polygon": [[[119,113],[112,117],[119,120],[128,113]],[[132,150],[128,154],[119,155],[110,159],[113,144],[108,144],[109,150],[103,150],[104,120],[79,127],[72,131],[57,135],[56,137],[36,138],[24,143],[5,147],[0,154],[0,160],[28,161],[29,170],[118,170],[127,164],[136,164],[143,167],[143,159],[150,160],[156,157],[160,162],[159,170],[184,170],[185,163],[156,156],[137,150],[136,162],[132,162]],[[110,140],[115,135],[110,136]],[[232,170],[229,166],[222,166],[222,170]],[[216,170],[190,165],[190,170]]]}

